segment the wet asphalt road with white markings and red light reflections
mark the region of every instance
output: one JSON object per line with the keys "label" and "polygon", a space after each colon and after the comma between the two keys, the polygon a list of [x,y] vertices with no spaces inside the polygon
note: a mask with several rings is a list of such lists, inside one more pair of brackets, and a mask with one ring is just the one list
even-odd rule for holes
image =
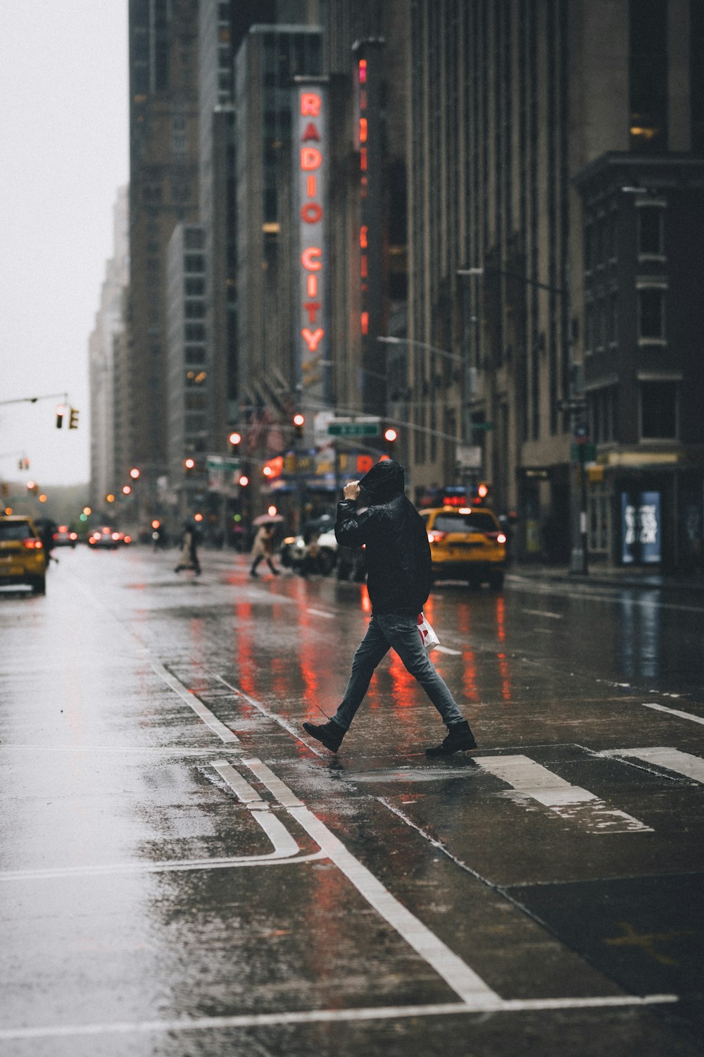
{"label": "wet asphalt road with white markings and red light reflections", "polygon": [[0,592],[0,1054],[704,1053],[704,595],[510,576],[337,757],[365,589],[58,552]]}

